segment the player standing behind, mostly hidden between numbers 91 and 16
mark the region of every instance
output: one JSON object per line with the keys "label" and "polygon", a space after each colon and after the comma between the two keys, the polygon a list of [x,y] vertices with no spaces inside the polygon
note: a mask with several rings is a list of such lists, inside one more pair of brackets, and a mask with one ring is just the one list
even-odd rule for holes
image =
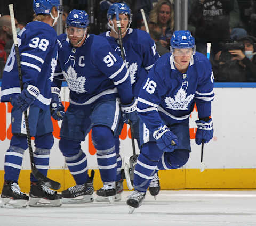
{"label": "player standing behind, mostly hidden between numbers 91 and 16", "polygon": [[[120,44],[118,39],[118,30],[116,22],[116,7],[118,9],[119,18],[121,22],[121,34],[123,42],[123,51],[125,57],[125,65],[129,71],[131,78],[131,85],[133,89],[133,94],[135,97],[138,96],[139,90],[142,86],[143,81],[145,81],[148,71],[152,68],[156,60],[158,60],[159,55],[156,52],[155,43],[151,39],[150,35],[145,31],[132,29],[130,24],[132,22],[132,14],[129,6],[123,3],[114,3],[111,5],[107,12],[108,25],[111,28],[110,31],[102,33],[101,36],[105,37],[114,51],[121,55]],[[120,125],[121,127],[123,124]],[[133,126],[135,139],[139,142],[139,120]],[[122,158],[119,154],[120,152],[120,141],[119,136],[115,137],[115,148],[117,157],[117,195],[115,200],[121,200],[121,192],[123,191],[123,179],[121,178],[121,166]],[[139,146],[140,147],[140,146]],[[152,195],[157,195],[159,192],[159,183],[157,173],[155,174],[156,182],[151,183]],[[154,186],[154,187],[153,187]],[[157,186],[157,187],[156,187]],[[97,191],[99,193],[99,191]],[[157,193],[157,194],[156,194]],[[105,199],[98,196],[96,199],[98,202],[104,201]]]}

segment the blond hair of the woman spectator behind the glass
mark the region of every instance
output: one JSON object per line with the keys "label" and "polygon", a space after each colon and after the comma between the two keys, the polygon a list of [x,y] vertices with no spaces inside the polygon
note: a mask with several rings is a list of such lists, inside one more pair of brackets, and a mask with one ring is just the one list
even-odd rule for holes
{"label": "blond hair of the woman spectator behind the glass", "polygon": [[149,22],[153,22],[153,23],[159,25],[158,24],[158,13],[159,13],[162,5],[168,5],[170,7],[170,19],[167,22],[167,24],[169,25],[170,29],[173,30],[174,29],[174,10],[173,10],[172,4],[169,2],[169,0],[159,0],[157,2],[157,4],[153,7],[153,9],[151,10],[151,12],[149,14]]}

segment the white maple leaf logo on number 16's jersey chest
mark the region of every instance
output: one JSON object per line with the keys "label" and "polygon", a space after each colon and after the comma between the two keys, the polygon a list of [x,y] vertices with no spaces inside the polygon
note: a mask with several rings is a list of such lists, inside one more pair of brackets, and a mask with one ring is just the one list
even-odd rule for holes
{"label": "white maple leaf logo on number 16's jersey chest", "polygon": [[195,94],[190,94],[187,96],[186,91],[181,87],[177,93],[174,95],[175,99],[172,97],[165,97],[166,108],[172,110],[187,110],[189,103],[194,98]]}

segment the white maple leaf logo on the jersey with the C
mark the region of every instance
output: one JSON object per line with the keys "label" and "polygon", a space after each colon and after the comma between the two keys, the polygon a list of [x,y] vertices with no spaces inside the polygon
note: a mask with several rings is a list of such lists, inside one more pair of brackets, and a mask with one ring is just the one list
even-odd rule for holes
{"label": "white maple leaf logo on the jersey with the C", "polygon": [[87,92],[84,88],[84,83],[86,82],[86,78],[83,76],[79,76],[77,78],[77,73],[72,66],[68,67],[67,73],[63,71],[65,79],[68,83],[68,87],[70,90],[76,93],[85,93]]}

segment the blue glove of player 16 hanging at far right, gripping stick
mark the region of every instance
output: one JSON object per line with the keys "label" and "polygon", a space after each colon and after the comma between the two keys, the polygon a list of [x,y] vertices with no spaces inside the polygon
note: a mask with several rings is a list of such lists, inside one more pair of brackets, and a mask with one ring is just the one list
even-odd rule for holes
{"label": "blue glove of player 16 hanging at far right, gripping stick", "polygon": [[196,120],[196,125],[196,144],[201,144],[202,140],[204,140],[204,143],[209,142],[213,137],[212,119],[210,119],[208,122]]}

